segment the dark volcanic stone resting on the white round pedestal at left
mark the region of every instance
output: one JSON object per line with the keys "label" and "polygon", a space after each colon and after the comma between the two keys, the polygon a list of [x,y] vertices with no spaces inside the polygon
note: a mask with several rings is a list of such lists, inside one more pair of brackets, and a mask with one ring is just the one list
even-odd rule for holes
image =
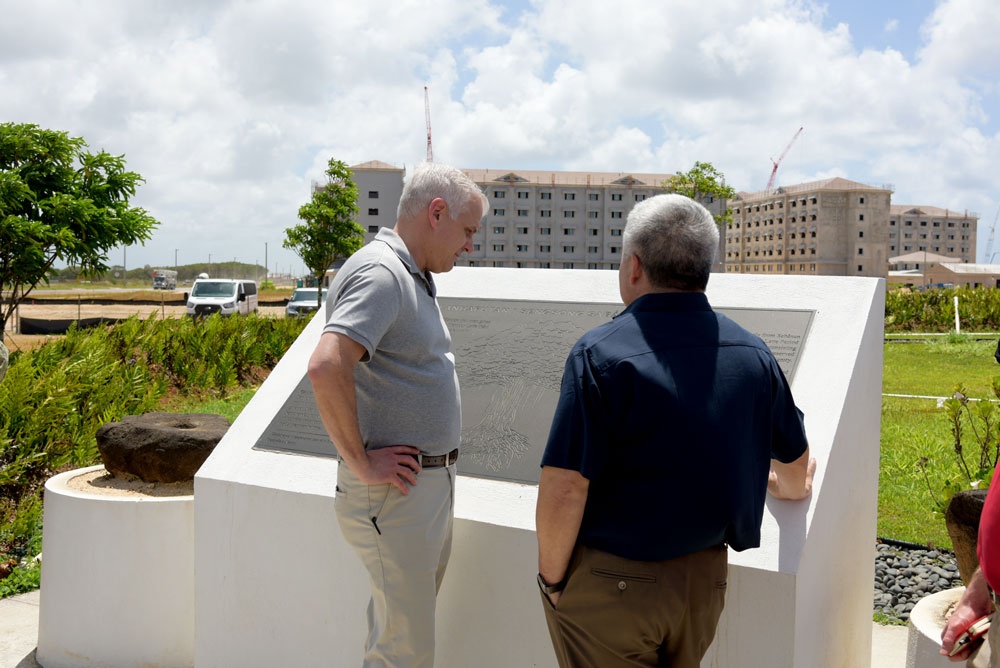
{"label": "dark volcanic stone resting on the white round pedestal at left", "polygon": [[97,430],[104,468],[145,482],[187,482],[229,429],[221,415],[126,415]]}

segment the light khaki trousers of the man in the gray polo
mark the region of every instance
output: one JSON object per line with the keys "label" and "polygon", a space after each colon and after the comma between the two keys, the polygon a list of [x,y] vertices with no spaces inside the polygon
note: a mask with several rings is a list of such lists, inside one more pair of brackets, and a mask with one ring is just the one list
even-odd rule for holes
{"label": "light khaki trousers of the man in the gray polo", "polygon": [[424,469],[404,496],[341,464],[334,507],[371,581],[364,668],[431,668],[434,610],[451,554],[455,466]]}

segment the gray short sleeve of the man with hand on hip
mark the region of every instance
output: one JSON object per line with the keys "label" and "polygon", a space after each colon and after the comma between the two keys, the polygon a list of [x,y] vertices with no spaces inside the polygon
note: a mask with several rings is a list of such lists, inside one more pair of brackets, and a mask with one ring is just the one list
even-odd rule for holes
{"label": "gray short sleeve of the man with hand on hip", "polygon": [[323,331],[344,334],[361,344],[362,361],[367,362],[399,316],[402,296],[396,278],[379,264],[360,269],[341,283],[334,299]]}

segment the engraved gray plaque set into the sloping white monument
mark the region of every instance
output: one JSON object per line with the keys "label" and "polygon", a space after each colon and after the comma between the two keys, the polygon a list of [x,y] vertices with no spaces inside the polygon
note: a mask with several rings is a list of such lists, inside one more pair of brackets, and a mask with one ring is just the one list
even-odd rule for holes
{"label": "engraved gray plaque set into the sloping white monument", "polygon": [[[439,301],[462,388],[459,472],[537,483],[566,355],[585,332],[619,313],[622,304]],[[791,381],[813,311],[716,310],[760,336]],[[305,374],[254,447],[336,456]]]}

